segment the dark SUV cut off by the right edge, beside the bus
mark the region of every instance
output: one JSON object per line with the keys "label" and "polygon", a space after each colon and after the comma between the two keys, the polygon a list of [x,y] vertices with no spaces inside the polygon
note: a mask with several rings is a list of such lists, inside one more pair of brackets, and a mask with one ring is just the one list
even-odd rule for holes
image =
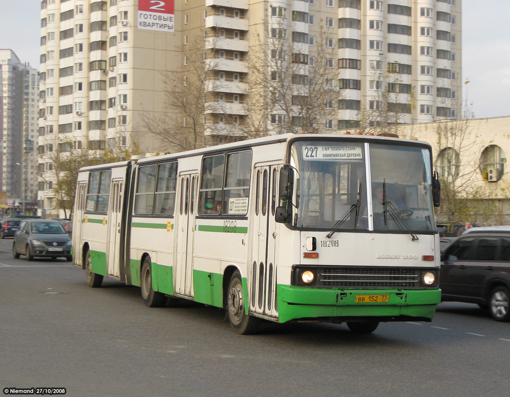
{"label": "dark SUV cut off by the right edge, beside the bus", "polygon": [[489,307],[497,321],[510,321],[510,226],[473,228],[441,257],[443,301]]}

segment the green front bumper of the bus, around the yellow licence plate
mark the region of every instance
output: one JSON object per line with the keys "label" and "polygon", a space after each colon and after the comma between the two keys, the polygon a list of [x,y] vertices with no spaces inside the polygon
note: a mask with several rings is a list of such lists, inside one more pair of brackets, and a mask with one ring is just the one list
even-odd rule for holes
{"label": "green front bumper of the bus, around the yellow licence plate", "polygon": [[[365,298],[366,302],[355,301],[356,296],[381,295],[388,295],[388,301],[374,303],[369,302],[369,298]],[[436,305],[441,302],[441,290],[341,290],[278,285],[277,299],[281,323],[299,319],[326,322],[432,321]]]}

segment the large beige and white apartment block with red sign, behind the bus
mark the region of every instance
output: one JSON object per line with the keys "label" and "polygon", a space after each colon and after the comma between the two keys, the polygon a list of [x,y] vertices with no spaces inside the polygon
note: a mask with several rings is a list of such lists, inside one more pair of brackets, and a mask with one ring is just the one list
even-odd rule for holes
{"label": "large beige and white apartment block with red sign, behind the bus", "polygon": [[[161,150],[144,133],[144,120],[167,110],[172,93],[165,73],[181,81],[175,96],[197,78],[189,52],[197,42],[206,80],[200,87],[210,102],[201,120],[206,144],[242,137],[238,127],[257,117],[263,133],[275,133],[312,123],[317,131],[368,119],[377,125],[380,110],[398,114],[395,123],[459,116],[461,0],[43,0],[45,119],[38,145],[46,214],[57,214],[48,174],[56,148],[100,151],[136,141],[144,151]],[[255,76],[261,61],[267,61],[265,96],[263,78]],[[304,124],[300,104],[322,84],[310,72],[319,63],[327,70],[329,96],[319,100],[326,110]],[[286,73],[276,69],[289,64],[292,87],[275,92],[271,83]],[[272,103],[267,114],[256,106],[256,91]],[[181,128],[197,121],[183,111]]]}

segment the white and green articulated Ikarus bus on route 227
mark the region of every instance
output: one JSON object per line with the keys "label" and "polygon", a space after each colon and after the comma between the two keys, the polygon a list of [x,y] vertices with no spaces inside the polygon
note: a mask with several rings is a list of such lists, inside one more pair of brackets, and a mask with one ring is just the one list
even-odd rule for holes
{"label": "white and green articulated Ikarus bus on route 227", "polygon": [[439,180],[429,144],[283,134],[84,167],[73,264],[147,306],[224,308],[233,329],[431,321]]}

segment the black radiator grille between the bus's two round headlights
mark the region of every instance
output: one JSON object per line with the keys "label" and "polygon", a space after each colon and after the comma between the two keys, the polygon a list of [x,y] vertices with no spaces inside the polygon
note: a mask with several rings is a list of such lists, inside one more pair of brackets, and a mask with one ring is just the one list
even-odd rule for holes
{"label": "black radiator grille between the bus's two round headlights", "polygon": [[319,288],[419,288],[420,270],[327,267],[318,269]]}

